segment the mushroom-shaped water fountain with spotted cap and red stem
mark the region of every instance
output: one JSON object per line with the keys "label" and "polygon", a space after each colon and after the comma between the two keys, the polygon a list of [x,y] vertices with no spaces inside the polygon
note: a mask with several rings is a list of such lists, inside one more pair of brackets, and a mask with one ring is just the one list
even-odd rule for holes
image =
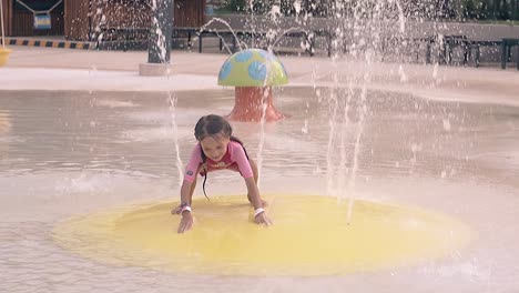
{"label": "mushroom-shaped water fountain with spotted cap and red stem", "polygon": [[274,122],[286,118],[272,102],[272,87],[288,83],[282,62],[262,49],[246,49],[231,55],[222,65],[218,84],[235,87],[230,120],[243,122]]}

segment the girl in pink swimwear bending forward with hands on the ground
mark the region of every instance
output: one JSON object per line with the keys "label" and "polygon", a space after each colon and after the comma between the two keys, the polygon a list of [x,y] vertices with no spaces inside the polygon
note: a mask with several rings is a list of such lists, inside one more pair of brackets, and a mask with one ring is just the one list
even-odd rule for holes
{"label": "girl in pink swimwear bending forward with hands on the ground", "polygon": [[243,143],[234,138],[232,132],[231,124],[220,115],[205,115],[196,122],[194,134],[199,143],[185,169],[181,204],[172,210],[172,213],[182,214],[179,233],[193,226],[191,200],[196,186],[196,175],[200,173],[206,178],[208,172],[224,169],[237,171],[244,178],[248,201],[254,206],[254,222],[265,225],[272,223],[263,209],[265,201],[260,196],[257,189],[257,165],[248,159]]}

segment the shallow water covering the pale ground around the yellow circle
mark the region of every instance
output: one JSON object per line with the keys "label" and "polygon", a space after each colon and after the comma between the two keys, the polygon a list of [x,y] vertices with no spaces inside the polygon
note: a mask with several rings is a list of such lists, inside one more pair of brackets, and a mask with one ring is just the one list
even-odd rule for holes
{"label": "shallow water covering the pale ground around the yellow circle", "polygon": [[[276,107],[292,118],[265,127],[261,183],[264,194],[327,193],[329,91],[286,88],[276,93]],[[518,109],[431,101],[383,91],[368,92],[355,196],[455,216],[477,235],[468,247],[413,266],[303,279],[175,274],[104,264],[58,246],[51,231],[69,216],[177,199],[170,94],[0,92],[0,291],[519,289],[519,229],[515,225],[519,209]],[[185,163],[195,143],[194,123],[210,112],[228,113],[233,91],[173,94],[179,99],[175,122],[180,156]],[[352,109],[356,109],[358,94],[353,101]],[[338,123],[337,128],[346,127],[345,149],[350,162],[358,117],[355,111],[348,117],[350,123]],[[260,125],[233,125],[254,158],[261,140]],[[337,161],[339,156],[337,152],[332,155]],[[245,188],[236,174],[218,172],[211,174],[207,191],[210,196],[241,194]],[[202,191],[199,189],[195,194],[200,196]],[[173,228],[176,223],[177,219],[172,218]]]}

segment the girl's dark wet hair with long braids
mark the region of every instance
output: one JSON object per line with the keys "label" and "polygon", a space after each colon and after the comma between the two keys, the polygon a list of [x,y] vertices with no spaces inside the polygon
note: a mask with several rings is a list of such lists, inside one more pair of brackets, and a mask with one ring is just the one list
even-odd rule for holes
{"label": "girl's dark wet hair with long braids", "polygon": [[[195,125],[194,135],[199,142],[207,137],[214,138],[217,135],[224,135],[225,138],[228,138],[231,141],[235,141],[242,144],[242,148],[243,148],[243,142],[240,139],[233,137],[233,128],[231,127],[228,121],[221,115],[208,114],[199,119],[199,122],[196,122],[196,125]],[[247,156],[247,160],[248,160],[248,154],[245,148],[243,148],[243,151],[245,152],[245,155]],[[205,155],[202,148],[200,150],[200,155],[202,156],[202,164],[204,166],[204,182],[202,183],[202,190],[204,191],[205,198],[210,200],[207,198],[207,194],[205,193],[205,182],[207,181],[207,168],[205,165],[205,162],[207,160],[207,156]]]}

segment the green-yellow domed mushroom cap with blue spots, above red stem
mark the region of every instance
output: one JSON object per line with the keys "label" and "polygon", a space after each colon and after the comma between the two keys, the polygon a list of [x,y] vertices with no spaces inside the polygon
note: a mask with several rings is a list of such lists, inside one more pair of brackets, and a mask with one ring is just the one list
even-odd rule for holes
{"label": "green-yellow domed mushroom cap with blue spots, above red stem", "polygon": [[218,84],[232,87],[271,87],[288,83],[283,63],[262,49],[246,49],[232,54],[220,69]]}

